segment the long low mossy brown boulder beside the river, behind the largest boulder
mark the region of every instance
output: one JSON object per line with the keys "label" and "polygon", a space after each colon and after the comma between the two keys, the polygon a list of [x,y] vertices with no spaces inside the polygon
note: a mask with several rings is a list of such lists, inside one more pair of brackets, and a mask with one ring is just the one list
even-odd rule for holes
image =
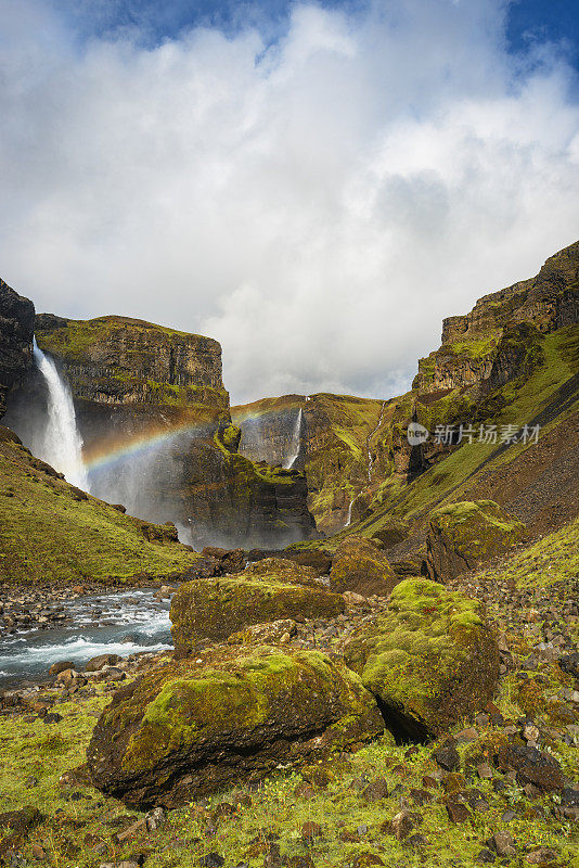
{"label": "long low mossy brown boulder beside the river, behind the largest boulder", "polygon": [[[291,566],[297,572],[305,570],[296,564]],[[252,624],[335,617],[344,611],[339,595],[331,593],[314,578],[303,578],[303,583],[293,582],[283,572],[246,571],[237,576],[181,585],[172,598],[170,612],[176,648],[190,649],[201,639],[221,641]]]}

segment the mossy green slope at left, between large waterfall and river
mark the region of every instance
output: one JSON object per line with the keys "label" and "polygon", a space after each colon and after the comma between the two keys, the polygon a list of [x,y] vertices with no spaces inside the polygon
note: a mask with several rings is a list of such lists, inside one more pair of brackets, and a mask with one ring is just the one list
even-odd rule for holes
{"label": "mossy green slope at left, between large waterfall and river", "polygon": [[130,518],[95,498],[78,500],[40,468],[24,447],[0,439],[0,579],[106,582],[194,564],[178,542],[147,541]]}

